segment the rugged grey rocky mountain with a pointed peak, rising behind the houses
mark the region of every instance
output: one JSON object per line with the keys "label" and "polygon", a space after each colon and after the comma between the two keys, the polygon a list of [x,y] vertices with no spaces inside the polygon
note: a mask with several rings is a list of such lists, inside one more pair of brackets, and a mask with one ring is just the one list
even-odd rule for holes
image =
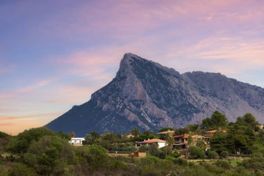
{"label": "rugged grey rocky mountain with a pointed peak, rising behind the houses", "polygon": [[125,54],[116,77],[46,127],[55,131],[127,133],[132,127],[157,131],[199,123],[213,111],[229,121],[253,113],[264,122],[264,89],[220,73],[187,72]]}

